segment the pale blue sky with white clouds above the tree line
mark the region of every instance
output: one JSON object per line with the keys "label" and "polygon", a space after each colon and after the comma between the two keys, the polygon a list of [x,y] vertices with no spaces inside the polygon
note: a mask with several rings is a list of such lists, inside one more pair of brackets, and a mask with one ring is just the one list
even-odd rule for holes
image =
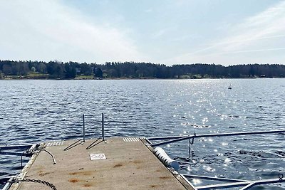
{"label": "pale blue sky with white clouds above the tree line", "polygon": [[285,1],[0,0],[0,60],[285,64]]}

